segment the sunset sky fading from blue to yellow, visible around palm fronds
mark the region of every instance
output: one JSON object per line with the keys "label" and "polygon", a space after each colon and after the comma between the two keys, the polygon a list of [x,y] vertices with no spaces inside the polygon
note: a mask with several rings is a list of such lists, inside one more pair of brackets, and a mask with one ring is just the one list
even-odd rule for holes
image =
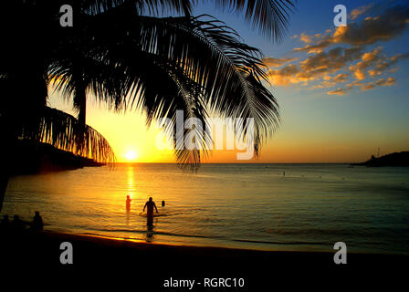
{"label": "sunset sky fading from blue to yellow, visible around palm fronds", "polygon": [[[339,4],[347,8],[344,27],[333,24]],[[220,150],[205,162],[362,162],[378,148],[381,155],[409,151],[407,1],[299,0],[280,42],[212,1],[194,9],[202,14],[261,50],[281,116],[257,159],[237,161],[237,151]],[[73,113],[72,103],[55,92],[49,104]],[[148,129],[140,111],[118,114],[89,97],[87,123],[110,142],[119,162],[175,162],[173,151],[157,149],[160,130]]]}

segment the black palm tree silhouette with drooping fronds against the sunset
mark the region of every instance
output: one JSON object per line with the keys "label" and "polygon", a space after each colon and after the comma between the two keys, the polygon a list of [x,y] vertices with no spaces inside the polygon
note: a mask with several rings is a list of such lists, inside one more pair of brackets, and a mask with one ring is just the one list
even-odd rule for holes
{"label": "black palm tree silhouette with drooping fronds against the sunset", "polygon": [[[275,40],[288,26],[294,2],[215,1],[222,8],[244,12],[251,26]],[[265,87],[261,53],[214,17],[192,16],[196,3],[3,0],[0,130],[5,143],[0,151],[10,153],[13,141],[31,139],[113,161],[108,141],[86,125],[87,98],[93,95],[112,110],[144,110],[148,125],[160,117],[174,121],[176,110],[204,121],[209,112],[254,118],[257,154],[279,121],[277,101]],[[61,5],[72,5],[73,27],[59,25]],[[50,86],[72,99],[78,120],[47,108]],[[211,138],[203,138],[200,130],[195,129],[197,139],[209,145]],[[242,137],[246,130],[245,125]],[[174,142],[178,139],[173,137]],[[206,153],[175,151],[180,165],[193,169]],[[0,193],[7,182],[7,163],[0,173]],[[2,199],[0,195],[0,210]]]}

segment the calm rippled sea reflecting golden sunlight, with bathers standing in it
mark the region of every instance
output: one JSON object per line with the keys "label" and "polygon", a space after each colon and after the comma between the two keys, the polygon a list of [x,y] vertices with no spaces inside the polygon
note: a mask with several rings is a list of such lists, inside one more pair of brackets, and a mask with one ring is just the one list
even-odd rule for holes
{"label": "calm rippled sea reflecting golden sunlight, with bathers standing in it", "polygon": [[[150,196],[152,231],[142,214]],[[34,211],[47,229],[156,243],[332,251],[342,241],[349,251],[409,254],[408,168],[207,164],[184,174],[122,164],[12,178],[2,214],[29,220]]]}

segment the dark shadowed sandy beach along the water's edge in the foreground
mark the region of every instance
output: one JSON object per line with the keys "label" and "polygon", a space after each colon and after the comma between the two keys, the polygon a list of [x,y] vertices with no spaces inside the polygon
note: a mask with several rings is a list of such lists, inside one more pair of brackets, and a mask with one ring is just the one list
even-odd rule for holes
{"label": "dark shadowed sandy beach along the water's edge in the foreground", "polygon": [[[63,242],[73,247],[72,264],[59,261]],[[380,282],[404,281],[408,256],[350,253],[346,265],[336,265],[334,254],[148,244],[50,231],[1,240],[5,279],[25,275],[44,280],[44,286],[52,278],[67,285],[114,285],[138,291],[142,287],[152,291],[266,291],[280,286],[328,288],[330,283],[336,289],[367,289]],[[241,278],[244,287],[204,287],[205,278]],[[192,289],[164,287],[171,279],[173,283],[189,279],[195,284]]]}

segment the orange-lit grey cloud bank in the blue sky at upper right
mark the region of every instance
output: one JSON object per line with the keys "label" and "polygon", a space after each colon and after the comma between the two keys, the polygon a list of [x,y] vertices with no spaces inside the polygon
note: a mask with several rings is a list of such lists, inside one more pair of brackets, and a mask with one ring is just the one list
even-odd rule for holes
{"label": "orange-lit grey cloud bank in the blue sky at upper right", "polygon": [[401,36],[409,25],[409,5],[381,8],[378,16],[368,16],[374,5],[364,5],[351,11],[352,20],[366,16],[359,23],[326,29],[322,34],[303,32],[291,36],[305,45],[294,48],[293,52],[305,55],[265,58],[271,82],[277,86],[298,84],[309,89],[327,89],[328,95],[395,85],[395,78],[386,74],[396,72],[399,62],[409,58],[409,52],[390,57],[383,47],[371,50],[367,47]]}

